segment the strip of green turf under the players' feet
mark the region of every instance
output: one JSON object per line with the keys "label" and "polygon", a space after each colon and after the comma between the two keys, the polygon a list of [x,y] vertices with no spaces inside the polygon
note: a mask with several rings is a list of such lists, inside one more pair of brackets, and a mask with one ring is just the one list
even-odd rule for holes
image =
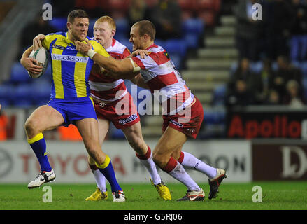
{"label": "strip of green turf under the players' feet", "polygon": [[[0,185],[0,210],[4,209],[99,209],[99,210],[204,210],[204,209],[307,209],[307,181],[255,182],[222,184],[214,200],[208,200],[208,183],[202,186],[206,193],[204,202],[176,202],[185,195],[185,186],[169,184],[172,200],[159,199],[150,184],[122,184],[127,201],[112,202],[110,190],[107,201],[85,202],[94,190],[94,184],[47,184],[52,187],[52,203],[43,202],[43,188],[27,189],[26,184]],[[262,187],[262,202],[252,202],[253,186]],[[109,187],[109,186],[108,186]],[[110,187],[108,188],[110,189]],[[111,196],[111,197],[110,197]]]}

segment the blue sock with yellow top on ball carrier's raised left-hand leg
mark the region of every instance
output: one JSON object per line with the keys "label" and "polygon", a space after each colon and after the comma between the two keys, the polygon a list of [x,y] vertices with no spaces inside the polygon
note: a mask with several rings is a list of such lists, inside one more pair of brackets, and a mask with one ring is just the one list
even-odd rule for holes
{"label": "blue sock with yellow top on ball carrier's raised left-hand leg", "polygon": [[28,143],[33,149],[39,165],[41,165],[41,171],[50,172],[51,166],[47,158],[46,142],[42,133],[37,134],[34,138],[28,139]]}

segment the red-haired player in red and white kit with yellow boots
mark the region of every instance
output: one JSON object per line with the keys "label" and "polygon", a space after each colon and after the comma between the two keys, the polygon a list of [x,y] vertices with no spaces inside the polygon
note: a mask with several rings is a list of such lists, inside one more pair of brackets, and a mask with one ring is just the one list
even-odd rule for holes
{"label": "red-haired player in red and white kit with yellow boots", "polygon": [[[116,25],[113,18],[103,16],[94,24],[94,39],[103,45],[110,56],[115,59],[124,59],[130,55],[130,52],[126,46],[113,38],[115,31]],[[171,200],[169,188],[164,185],[157,173],[157,167],[152,160],[150,147],[143,140],[140,117],[133,99],[124,85],[124,80],[110,78],[106,76],[107,71],[103,70],[98,64],[95,64],[92,67],[89,78],[91,97],[94,100],[95,111],[99,122],[100,144],[103,144],[109,129],[109,124],[112,122],[117,129],[121,129],[124,132],[130,146],[136,151],[136,157],[145,165],[150,173],[152,183],[157,188],[159,196],[164,200]],[[122,115],[116,112],[118,102],[127,105],[123,107],[124,109],[121,111],[123,113]],[[90,156],[88,162],[97,183],[97,190],[85,200],[106,200],[108,197],[106,179],[99,172],[94,160]]]}

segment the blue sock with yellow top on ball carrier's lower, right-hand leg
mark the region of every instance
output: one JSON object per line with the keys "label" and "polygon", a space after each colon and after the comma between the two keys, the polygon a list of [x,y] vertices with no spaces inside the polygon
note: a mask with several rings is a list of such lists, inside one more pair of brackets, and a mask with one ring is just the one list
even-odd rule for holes
{"label": "blue sock with yellow top on ball carrier's lower, right-hand leg", "polygon": [[117,190],[122,190],[122,188],[120,188],[120,185],[117,183],[113,165],[108,155],[106,157],[106,160],[103,162],[103,164],[100,166],[97,165],[97,167],[99,167],[100,172],[103,174],[103,176],[106,177],[106,179],[108,180],[108,183],[110,183],[112,192],[115,192]]}

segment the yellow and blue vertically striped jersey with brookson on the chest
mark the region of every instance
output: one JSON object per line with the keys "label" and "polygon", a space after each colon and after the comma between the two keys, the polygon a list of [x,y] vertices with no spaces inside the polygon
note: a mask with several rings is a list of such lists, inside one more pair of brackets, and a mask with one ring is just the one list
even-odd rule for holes
{"label": "yellow and blue vertically striped jersey with brookson on the chest", "polygon": [[[97,53],[105,57],[110,56],[100,43],[89,41]],[[51,99],[90,97],[88,78],[94,61],[76,50],[76,45],[69,40],[68,33],[48,34],[42,43],[50,52],[52,64]]]}

